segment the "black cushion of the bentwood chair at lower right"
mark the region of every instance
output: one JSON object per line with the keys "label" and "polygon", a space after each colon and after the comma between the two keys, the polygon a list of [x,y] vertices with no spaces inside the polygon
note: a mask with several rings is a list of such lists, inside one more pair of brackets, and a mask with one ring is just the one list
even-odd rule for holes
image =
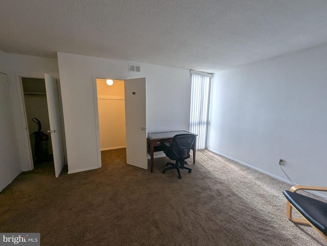
{"label": "black cushion of the bentwood chair at lower right", "polygon": [[283,194],[312,225],[327,235],[327,203],[289,190]]}

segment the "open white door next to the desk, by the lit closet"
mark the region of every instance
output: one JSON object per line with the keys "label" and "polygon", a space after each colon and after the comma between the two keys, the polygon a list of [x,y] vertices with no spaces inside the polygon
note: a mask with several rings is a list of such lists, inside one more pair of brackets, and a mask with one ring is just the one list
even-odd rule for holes
{"label": "open white door next to the desk, by the lit closet", "polygon": [[148,169],[146,78],[125,80],[126,159]]}

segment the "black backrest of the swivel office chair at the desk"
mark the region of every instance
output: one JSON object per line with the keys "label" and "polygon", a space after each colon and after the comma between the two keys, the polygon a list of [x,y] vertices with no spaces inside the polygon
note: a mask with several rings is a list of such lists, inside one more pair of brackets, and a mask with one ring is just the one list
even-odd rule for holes
{"label": "black backrest of the swivel office chair at the desk", "polygon": [[175,135],[171,144],[174,155],[180,159],[186,159],[190,154],[195,136],[194,134]]}

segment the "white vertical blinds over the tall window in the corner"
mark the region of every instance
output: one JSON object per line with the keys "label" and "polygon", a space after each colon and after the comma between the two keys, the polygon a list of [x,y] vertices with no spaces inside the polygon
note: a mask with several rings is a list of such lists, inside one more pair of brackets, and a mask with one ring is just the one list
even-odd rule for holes
{"label": "white vertical blinds over the tall window in the corner", "polygon": [[191,71],[190,132],[197,134],[196,149],[206,148],[212,75]]}

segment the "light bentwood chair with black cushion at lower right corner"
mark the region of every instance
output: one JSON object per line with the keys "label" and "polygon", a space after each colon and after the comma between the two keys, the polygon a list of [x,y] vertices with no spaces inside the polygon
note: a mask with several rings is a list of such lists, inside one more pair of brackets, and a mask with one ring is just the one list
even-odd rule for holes
{"label": "light bentwood chair with black cushion at lower right corner", "polygon": [[[286,214],[291,222],[311,225],[327,241],[327,203],[296,193],[297,190],[327,191],[327,188],[295,185],[283,191],[288,200]],[[302,218],[292,217],[292,208]]]}

